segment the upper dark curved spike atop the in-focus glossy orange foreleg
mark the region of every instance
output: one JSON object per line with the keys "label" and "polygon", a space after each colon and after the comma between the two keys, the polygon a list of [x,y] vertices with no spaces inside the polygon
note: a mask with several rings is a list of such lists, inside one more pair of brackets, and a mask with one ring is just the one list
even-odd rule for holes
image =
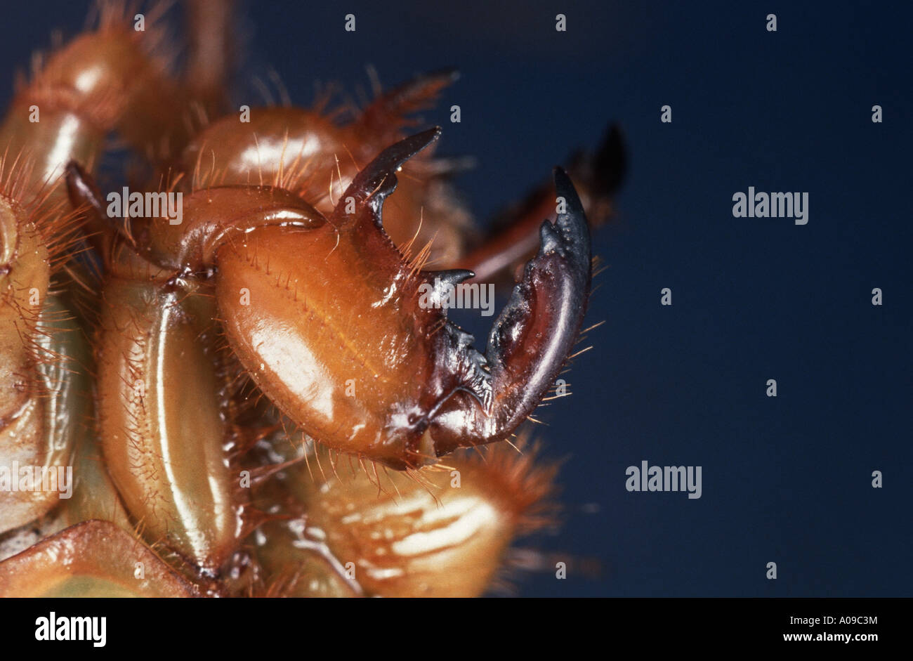
{"label": "upper dark curved spike atop the in-focus glossy orange foreleg", "polygon": [[[333,211],[333,217],[338,222],[337,227],[349,226],[352,223],[358,226],[362,221],[370,220],[374,226],[383,229],[381,221],[381,207],[387,195],[396,190],[396,170],[416,153],[421,152],[441,135],[441,127],[415,133],[408,138],[396,142],[380,152],[377,157],[358,173],[352,184]],[[353,210],[350,212],[350,209]],[[368,216],[365,216],[368,212]]]}

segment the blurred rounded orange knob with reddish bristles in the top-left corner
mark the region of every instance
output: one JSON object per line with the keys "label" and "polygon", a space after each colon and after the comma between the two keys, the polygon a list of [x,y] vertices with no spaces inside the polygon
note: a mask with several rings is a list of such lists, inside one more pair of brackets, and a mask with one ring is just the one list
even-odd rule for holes
{"label": "blurred rounded orange knob with reddish bristles in the top-left corner", "polygon": [[162,30],[137,31],[126,15],[104,5],[96,29],[36,58],[0,125],[0,154],[29,159],[33,184],[52,189],[47,204],[65,200],[57,184],[70,160],[98,163],[110,131],[151,156],[185,142],[184,95],[154,54]]}

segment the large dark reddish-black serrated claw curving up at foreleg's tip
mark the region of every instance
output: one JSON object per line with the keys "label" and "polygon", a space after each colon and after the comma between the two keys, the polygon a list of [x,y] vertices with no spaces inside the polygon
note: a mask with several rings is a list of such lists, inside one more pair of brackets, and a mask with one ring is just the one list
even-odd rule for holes
{"label": "large dark reddish-black serrated claw curving up at foreleg's tip", "polygon": [[549,391],[577,340],[592,277],[590,228],[567,173],[555,168],[554,178],[557,220],[540,226],[539,253],[491,329],[485,356],[452,324],[440,340],[458,379],[431,421],[438,456],[508,437]]}

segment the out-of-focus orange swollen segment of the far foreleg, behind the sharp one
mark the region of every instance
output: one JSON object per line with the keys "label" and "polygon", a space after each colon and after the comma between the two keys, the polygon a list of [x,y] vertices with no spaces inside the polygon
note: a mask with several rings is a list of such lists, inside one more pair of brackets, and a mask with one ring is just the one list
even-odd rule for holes
{"label": "out-of-focus orange swollen segment of the far foreleg, behind the sharp one", "polygon": [[[384,147],[404,137],[406,116],[430,105],[456,79],[432,72],[379,94],[364,110],[267,107],[214,121],[184,150],[184,172],[197,187],[281,186],[329,215],[346,188]],[[334,115],[348,115],[340,124]],[[464,162],[466,160],[464,159]],[[474,232],[467,209],[448,183],[458,160],[435,159],[431,150],[404,163],[399,187],[386,205],[384,231],[398,247],[425,247],[436,263],[453,264]],[[416,250],[417,251],[417,250]]]}

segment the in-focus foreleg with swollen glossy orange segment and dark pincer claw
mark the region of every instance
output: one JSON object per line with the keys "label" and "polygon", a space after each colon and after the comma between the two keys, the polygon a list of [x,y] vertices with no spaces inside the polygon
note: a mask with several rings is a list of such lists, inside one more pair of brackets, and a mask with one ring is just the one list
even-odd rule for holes
{"label": "in-focus foreleg with swollen glossy orange segment and dark pincer claw", "polygon": [[511,435],[567,360],[590,287],[589,228],[556,169],[566,212],[540,226],[540,252],[486,353],[472,346],[436,304],[472,273],[424,271],[383,231],[396,170],[439,133],[381,152],[329,218],[281,189],[227,186],[190,194],[181,225],[132,230],[163,269],[214,274],[229,345],[289,418],[334,449],[399,469]]}

